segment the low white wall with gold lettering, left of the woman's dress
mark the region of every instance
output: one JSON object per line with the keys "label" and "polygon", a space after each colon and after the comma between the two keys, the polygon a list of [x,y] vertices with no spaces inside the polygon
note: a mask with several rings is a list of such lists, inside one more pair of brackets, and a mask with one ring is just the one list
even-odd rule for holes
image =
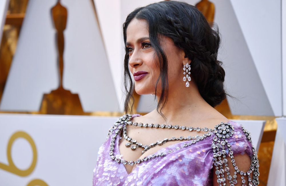
{"label": "low white wall with gold lettering, left of the woman's dress", "polygon": [[[117,119],[118,117],[0,114],[0,185],[28,185],[34,179],[41,179],[50,186],[92,185],[98,149]],[[19,131],[31,137],[37,154],[35,168],[24,177],[15,174],[17,168],[9,172],[3,170],[2,165],[9,165],[7,145],[11,136]],[[17,138],[11,150],[15,166],[22,170],[28,169],[34,159],[32,152],[26,139]]]}

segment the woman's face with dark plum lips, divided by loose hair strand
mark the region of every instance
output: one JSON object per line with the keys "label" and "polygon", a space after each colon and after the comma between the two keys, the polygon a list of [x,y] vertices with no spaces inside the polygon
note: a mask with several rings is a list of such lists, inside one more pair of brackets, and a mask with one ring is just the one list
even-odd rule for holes
{"label": "woman's face with dark plum lips, divided by loose hair strand", "polygon": [[[175,86],[183,87],[185,82],[182,80],[183,64],[188,63],[184,58],[184,51],[174,45],[171,38],[162,36],[160,46],[164,50],[168,60],[168,82],[169,89]],[[158,57],[152,48],[148,23],[144,19],[132,19],[126,30],[126,48],[129,52],[129,70],[131,75],[138,71],[145,71],[147,74],[140,79],[140,76],[134,76],[135,91],[137,94],[155,94],[156,81],[160,74],[160,68],[156,65]],[[142,75],[141,75],[142,76]],[[138,79],[139,78],[139,79]],[[180,84],[181,82],[182,84]],[[157,94],[161,93],[161,80],[158,82]]]}

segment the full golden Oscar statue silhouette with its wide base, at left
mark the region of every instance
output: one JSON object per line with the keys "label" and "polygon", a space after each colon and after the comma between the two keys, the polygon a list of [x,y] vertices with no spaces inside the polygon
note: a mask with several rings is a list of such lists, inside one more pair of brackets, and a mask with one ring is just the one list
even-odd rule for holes
{"label": "full golden Oscar statue silhouette with its wide base, at left", "polygon": [[57,30],[55,36],[59,62],[59,87],[52,90],[50,94],[44,94],[40,113],[83,115],[84,112],[78,94],[72,94],[69,90],[63,88],[63,31],[67,24],[67,9],[61,5],[60,0],[51,8],[51,15],[54,27]]}

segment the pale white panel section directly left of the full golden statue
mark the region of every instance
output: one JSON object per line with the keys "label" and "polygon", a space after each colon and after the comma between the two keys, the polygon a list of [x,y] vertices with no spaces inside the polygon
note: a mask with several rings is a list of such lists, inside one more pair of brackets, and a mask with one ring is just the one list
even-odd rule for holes
{"label": "pale white panel section directly left of the full golden statue", "polygon": [[43,94],[58,86],[55,30],[50,13],[56,2],[29,1],[1,99],[1,110],[39,110]]}

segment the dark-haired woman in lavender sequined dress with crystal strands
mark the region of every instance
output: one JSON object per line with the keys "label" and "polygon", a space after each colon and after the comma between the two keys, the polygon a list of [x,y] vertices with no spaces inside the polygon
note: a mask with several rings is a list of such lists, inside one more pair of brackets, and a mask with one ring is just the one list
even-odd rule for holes
{"label": "dark-haired woman in lavender sequined dress with crystal strands", "polygon": [[249,133],[213,108],[226,97],[218,30],[194,6],[162,1],[131,12],[123,33],[125,112],[134,86],[158,106],[114,123],[93,185],[258,185]]}

